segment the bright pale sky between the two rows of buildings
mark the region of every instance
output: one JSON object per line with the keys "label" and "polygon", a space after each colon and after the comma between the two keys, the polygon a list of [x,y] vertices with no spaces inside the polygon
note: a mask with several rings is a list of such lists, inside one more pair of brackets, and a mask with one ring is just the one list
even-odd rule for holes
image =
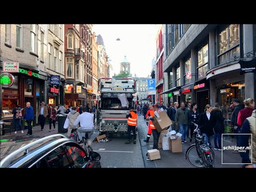
{"label": "bright pale sky between the two rows of buildings", "polygon": [[[150,75],[156,57],[156,35],[161,25],[93,25],[92,31],[101,35],[114,73],[119,74],[124,56],[131,63],[131,74]],[[116,41],[119,38],[120,41]]]}

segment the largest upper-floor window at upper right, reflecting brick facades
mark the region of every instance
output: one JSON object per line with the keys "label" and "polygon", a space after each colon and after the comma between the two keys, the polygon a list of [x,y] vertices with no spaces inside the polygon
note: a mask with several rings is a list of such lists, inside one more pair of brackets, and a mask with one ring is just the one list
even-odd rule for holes
{"label": "largest upper-floor window at upper right, reflecting brick facades", "polygon": [[231,24],[218,33],[218,65],[240,56],[239,24]]}

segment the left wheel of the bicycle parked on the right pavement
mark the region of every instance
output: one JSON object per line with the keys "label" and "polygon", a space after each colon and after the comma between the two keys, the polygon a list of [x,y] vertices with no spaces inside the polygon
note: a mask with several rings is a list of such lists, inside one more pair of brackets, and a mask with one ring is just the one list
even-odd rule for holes
{"label": "left wheel of the bicycle parked on the right pavement", "polygon": [[204,167],[203,159],[198,156],[196,144],[191,145],[186,151],[188,163],[194,167]]}

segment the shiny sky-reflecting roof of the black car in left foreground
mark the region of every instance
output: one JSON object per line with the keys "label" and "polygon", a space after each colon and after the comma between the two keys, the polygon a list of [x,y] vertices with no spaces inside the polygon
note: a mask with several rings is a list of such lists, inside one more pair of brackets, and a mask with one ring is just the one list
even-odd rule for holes
{"label": "shiny sky-reflecting roof of the black car in left foreground", "polygon": [[10,155],[6,156],[0,162],[0,167],[18,167],[23,164],[30,162],[31,159],[39,158],[49,151],[49,149],[54,148],[61,143],[70,141],[62,134],[54,134],[41,139],[38,139],[34,142],[29,143],[26,146],[21,147],[18,150],[13,151]]}

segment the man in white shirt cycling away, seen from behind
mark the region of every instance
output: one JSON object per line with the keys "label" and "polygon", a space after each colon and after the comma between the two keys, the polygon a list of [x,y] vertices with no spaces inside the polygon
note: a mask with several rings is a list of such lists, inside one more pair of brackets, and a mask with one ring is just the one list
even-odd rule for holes
{"label": "man in white shirt cycling away, seen from behind", "polygon": [[93,134],[93,114],[87,113],[87,108],[82,108],[82,114],[79,115],[74,122],[74,129],[76,129],[76,125],[80,123],[80,127],[77,129],[78,138],[82,141],[82,137],[85,137],[85,132],[88,133],[88,144],[91,145],[91,136]]}

